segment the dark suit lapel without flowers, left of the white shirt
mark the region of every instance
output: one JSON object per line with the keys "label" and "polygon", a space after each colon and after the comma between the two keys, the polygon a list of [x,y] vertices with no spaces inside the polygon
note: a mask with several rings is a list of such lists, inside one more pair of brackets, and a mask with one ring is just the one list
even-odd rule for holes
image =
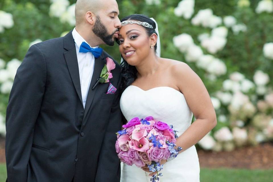
{"label": "dark suit lapel without flowers, left of the white shirt", "polygon": [[67,67],[72,78],[73,84],[75,86],[78,97],[80,98],[80,102],[82,103],[82,92],[80,88],[80,73],[78,66],[78,59],[76,53],[76,47],[74,43],[74,39],[72,36],[72,31],[70,31],[64,37],[64,48],[67,52],[64,52],[65,61],[67,63]]}

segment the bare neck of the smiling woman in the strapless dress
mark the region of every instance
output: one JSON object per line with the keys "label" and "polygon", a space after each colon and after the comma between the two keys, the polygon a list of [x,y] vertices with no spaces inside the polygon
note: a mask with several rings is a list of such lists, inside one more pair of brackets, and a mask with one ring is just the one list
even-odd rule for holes
{"label": "bare neck of the smiling woman in the strapless dress", "polygon": [[142,60],[136,68],[140,77],[153,75],[159,68],[159,57],[152,53]]}

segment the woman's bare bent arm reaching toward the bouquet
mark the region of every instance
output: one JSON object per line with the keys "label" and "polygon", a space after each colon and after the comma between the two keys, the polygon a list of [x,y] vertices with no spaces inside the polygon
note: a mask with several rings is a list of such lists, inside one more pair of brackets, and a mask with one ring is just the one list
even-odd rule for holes
{"label": "woman's bare bent arm reaching toward the bouquet", "polygon": [[216,113],[206,87],[199,76],[186,64],[178,63],[172,67],[173,78],[184,94],[187,104],[196,120],[177,138],[176,146],[183,152],[195,145],[216,126]]}

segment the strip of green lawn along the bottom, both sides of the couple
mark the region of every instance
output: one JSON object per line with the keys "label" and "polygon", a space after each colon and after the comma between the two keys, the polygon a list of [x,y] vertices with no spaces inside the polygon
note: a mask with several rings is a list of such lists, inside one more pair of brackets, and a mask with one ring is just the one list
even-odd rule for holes
{"label": "strip of green lawn along the bottom, both sides of the couple", "polygon": [[[0,164],[0,182],[6,181],[6,164]],[[273,181],[273,169],[208,169],[201,168],[200,182],[270,182]]]}

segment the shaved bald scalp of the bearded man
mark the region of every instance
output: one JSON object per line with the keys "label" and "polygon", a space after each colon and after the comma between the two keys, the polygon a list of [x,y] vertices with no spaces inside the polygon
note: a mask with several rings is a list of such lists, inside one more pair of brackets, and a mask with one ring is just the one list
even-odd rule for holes
{"label": "shaved bald scalp of the bearded man", "polygon": [[84,21],[86,12],[90,11],[97,15],[109,4],[109,1],[117,4],[115,0],[77,0],[75,7],[76,25]]}

